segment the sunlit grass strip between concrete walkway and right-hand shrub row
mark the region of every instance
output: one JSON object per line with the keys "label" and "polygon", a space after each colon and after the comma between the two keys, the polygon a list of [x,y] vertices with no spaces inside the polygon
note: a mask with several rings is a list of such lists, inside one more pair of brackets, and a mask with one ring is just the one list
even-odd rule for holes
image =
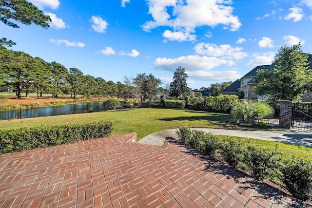
{"label": "sunlit grass strip between concrete walkway and right-hand shrub row", "polygon": [[[224,139],[227,136],[218,135],[220,139]],[[234,140],[247,141],[248,138],[240,138],[236,136],[232,136]],[[282,156],[288,158],[289,156],[298,156],[300,158],[311,158],[312,159],[312,148],[285,144],[282,142],[273,142],[261,139],[249,139],[251,144],[257,145],[262,148],[267,148],[270,150],[274,150],[275,144],[277,143],[277,151],[282,152]]]}

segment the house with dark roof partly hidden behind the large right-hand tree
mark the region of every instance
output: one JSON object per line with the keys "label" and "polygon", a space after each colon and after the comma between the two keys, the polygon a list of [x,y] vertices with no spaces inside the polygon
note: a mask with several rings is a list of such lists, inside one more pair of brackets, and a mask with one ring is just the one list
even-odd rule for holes
{"label": "house with dark roof partly hidden behind the large right-hand tree", "polygon": [[[309,54],[308,61],[310,62],[309,67],[312,69],[312,55]],[[261,98],[253,94],[254,80],[253,77],[256,76],[257,70],[267,68],[269,71],[275,68],[274,64],[271,65],[261,65],[255,67],[252,71],[248,72],[245,76],[242,76],[239,80],[234,81],[229,87],[222,90],[222,94],[235,95],[237,92],[243,92],[244,99],[246,98]],[[302,101],[309,102],[312,101],[312,94],[306,93],[302,96]]]}

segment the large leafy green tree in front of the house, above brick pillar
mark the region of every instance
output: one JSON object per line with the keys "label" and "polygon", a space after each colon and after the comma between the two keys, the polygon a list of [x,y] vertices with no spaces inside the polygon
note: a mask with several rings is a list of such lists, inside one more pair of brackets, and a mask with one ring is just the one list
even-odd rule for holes
{"label": "large leafy green tree in front of the house, above brick pillar", "polygon": [[254,77],[254,93],[266,96],[272,102],[299,100],[311,90],[312,71],[308,54],[302,52],[301,44],[282,46],[274,57],[273,70],[260,69]]}

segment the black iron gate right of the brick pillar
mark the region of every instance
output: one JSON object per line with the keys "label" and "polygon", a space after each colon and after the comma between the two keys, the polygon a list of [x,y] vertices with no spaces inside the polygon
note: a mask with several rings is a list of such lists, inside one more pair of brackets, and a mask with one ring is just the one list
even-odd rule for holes
{"label": "black iron gate right of the brick pillar", "polygon": [[312,103],[294,103],[292,129],[312,132]]}

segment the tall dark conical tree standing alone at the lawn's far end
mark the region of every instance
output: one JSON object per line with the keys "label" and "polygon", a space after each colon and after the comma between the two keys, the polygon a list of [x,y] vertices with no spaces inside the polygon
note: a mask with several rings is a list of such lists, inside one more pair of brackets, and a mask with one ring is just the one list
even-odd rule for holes
{"label": "tall dark conical tree standing alone at the lawn's far end", "polygon": [[179,66],[174,73],[174,79],[170,83],[170,96],[180,98],[183,94],[189,92],[186,84],[187,74],[185,68]]}

